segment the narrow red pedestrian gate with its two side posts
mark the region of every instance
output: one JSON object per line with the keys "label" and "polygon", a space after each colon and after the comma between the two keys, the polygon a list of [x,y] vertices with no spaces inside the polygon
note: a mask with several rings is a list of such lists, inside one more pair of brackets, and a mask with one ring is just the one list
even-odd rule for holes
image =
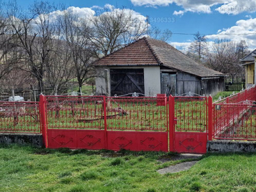
{"label": "narrow red pedestrian gate with its two side posts", "polygon": [[212,98],[170,96],[169,106],[170,151],[204,154],[208,128],[212,132],[212,123],[208,122],[211,119],[208,116],[211,116]]}

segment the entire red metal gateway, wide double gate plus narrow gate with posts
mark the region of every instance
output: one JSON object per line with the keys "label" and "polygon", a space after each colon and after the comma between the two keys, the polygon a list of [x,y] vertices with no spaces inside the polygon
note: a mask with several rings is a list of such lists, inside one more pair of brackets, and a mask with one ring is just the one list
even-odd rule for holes
{"label": "entire red metal gateway, wide double gate plus narrow gate with posts", "polygon": [[207,134],[209,140],[212,137],[211,97],[207,100],[207,97],[170,96],[167,102],[163,95],[42,95],[40,107],[42,134],[45,147],[49,148],[124,148],[202,154],[206,152]]}

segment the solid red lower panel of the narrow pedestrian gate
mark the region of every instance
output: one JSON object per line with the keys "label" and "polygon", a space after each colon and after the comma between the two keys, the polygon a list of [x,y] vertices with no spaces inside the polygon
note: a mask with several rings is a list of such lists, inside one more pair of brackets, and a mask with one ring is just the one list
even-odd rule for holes
{"label": "solid red lower panel of the narrow pedestrian gate", "polygon": [[204,154],[207,145],[206,132],[175,132],[175,152]]}

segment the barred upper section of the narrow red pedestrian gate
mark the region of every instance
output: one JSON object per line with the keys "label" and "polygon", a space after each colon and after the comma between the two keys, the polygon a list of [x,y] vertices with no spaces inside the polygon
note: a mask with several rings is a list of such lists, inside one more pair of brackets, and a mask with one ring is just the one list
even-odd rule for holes
{"label": "barred upper section of the narrow red pedestrian gate", "polygon": [[207,97],[174,97],[176,131],[207,131]]}

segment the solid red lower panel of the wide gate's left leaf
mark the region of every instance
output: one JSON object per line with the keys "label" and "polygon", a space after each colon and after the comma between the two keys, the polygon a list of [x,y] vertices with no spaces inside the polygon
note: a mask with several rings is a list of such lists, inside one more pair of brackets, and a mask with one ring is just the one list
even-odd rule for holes
{"label": "solid red lower panel of the wide gate's left leaf", "polygon": [[104,131],[79,129],[48,129],[49,148],[105,148]]}

